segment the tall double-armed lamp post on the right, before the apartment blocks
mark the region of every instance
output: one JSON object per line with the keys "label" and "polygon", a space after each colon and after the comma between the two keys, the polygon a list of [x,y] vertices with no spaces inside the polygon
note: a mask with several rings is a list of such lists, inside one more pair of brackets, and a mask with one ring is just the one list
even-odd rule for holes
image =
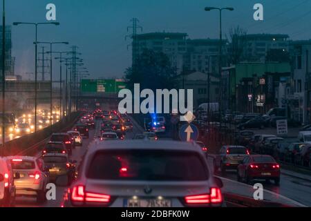
{"label": "tall double-armed lamp post on the right, before the apartment blocks", "polygon": [[222,65],[222,57],[223,57],[223,32],[222,32],[222,12],[223,10],[233,11],[234,8],[226,7],[226,8],[216,8],[216,7],[205,7],[205,11],[209,12],[211,10],[218,10],[219,11],[219,57],[218,57],[218,73],[219,73],[219,115],[220,115],[220,124],[222,122],[222,102],[221,99],[223,98],[222,93],[222,77],[221,77],[221,65]]}

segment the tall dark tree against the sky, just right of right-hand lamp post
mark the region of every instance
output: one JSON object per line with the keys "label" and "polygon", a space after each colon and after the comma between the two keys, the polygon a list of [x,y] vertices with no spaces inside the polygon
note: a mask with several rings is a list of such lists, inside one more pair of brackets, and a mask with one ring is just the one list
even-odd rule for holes
{"label": "tall dark tree against the sky, just right of right-hand lamp post", "polygon": [[231,42],[228,50],[228,59],[230,64],[238,64],[243,60],[243,52],[246,47],[247,31],[240,26],[232,27],[229,30],[229,42]]}

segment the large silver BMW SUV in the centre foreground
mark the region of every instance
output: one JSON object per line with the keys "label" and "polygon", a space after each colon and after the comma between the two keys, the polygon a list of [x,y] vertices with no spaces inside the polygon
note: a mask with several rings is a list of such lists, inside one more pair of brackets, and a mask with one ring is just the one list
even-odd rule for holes
{"label": "large silver BMW SUV in the centre foreground", "polygon": [[95,142],[62,206],[222,206],[223,183],[196,143]]}

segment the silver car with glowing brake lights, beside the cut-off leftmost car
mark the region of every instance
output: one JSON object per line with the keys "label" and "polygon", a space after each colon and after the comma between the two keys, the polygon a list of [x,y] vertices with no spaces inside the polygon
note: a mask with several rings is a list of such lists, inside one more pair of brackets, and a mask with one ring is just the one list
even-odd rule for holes
{"label": "silver car with glowing brake lights, beside the cut-off leftmost car", "polygon": [[41,203],[46,200],[46,184],[48,175],[45,172],[43,160],[36,157],[14,156],[8,157],[13,173],[19,174],[15,179],[16,194],[32,196]]}

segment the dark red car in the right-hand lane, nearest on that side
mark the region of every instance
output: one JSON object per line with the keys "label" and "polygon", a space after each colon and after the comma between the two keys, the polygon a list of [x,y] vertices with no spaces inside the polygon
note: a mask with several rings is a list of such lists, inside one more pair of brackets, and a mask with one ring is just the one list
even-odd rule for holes
{"label": "dark red car in the right-hand lane, nearest on that side", "polygon": [[270,155],[249,155],[238,165],[237,180],[252,183],[253,180],[274,180],[280,184],[280,165]]}

